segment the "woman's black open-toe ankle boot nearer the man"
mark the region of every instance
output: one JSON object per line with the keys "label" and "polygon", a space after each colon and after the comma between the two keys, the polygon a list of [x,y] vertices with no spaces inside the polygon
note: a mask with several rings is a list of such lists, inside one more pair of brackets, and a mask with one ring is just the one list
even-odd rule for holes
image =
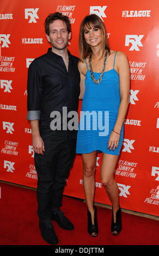
{"label": "woman's black open-toe ankle boot nearer the man", "polygon": [[[94,212],[94,224],[92,224],[92,222],[91,222],[91,213],[88,209],[87,209],[87,216],[88,216],[88,233],[91,236],[96,237],[98,234],[96,208],[95,208],[95,212]],[[93,233],[95,233],[95,234],[93,234]]]}

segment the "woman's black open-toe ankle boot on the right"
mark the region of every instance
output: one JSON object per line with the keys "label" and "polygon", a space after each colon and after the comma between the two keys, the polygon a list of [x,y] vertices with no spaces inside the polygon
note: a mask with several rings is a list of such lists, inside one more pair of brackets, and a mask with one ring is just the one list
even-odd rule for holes
{"label": "woman's black open-toe ankle boot on the right", "polygon": [[121,209],[119,206],[116,212],[116,222],[114,223],[113,208],[112,208],[112,225],[111,225],[112,235],[118,235],[121,231]]}

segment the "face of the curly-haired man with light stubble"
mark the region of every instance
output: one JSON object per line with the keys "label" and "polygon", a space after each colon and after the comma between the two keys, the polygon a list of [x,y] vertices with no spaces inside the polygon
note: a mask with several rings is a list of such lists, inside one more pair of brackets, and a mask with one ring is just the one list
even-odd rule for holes
{"label": "face of the curly-haired man with light stubble", "polygon": [[49,25],[49,35],[46,34],[48,42],[53,48],[63,50],[67,47],[71,38],[71,32],[68,33],[67,26],[62,20],[55,20]]}

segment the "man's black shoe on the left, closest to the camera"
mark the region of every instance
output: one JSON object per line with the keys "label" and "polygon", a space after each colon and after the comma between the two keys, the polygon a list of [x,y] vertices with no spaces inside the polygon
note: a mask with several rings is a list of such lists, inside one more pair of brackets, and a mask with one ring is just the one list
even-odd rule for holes
{"label": "man's black shoe on the left, closest to the camera", "polygon": [[41,230],[42,238],[51,245],[56,245],[58,243],[57,235],[53,229],[51,221],[39,222],[39,228]]}

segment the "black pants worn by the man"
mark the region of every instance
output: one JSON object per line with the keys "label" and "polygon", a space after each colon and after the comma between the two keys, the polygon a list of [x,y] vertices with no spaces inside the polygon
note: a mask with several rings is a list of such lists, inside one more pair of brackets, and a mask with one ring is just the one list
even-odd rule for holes
{"label": "black pants worn by the man", "polygon": [[37,200],[40,221],[51,220],[54,208],[62,205],[62,194],[75,159],[76,139],[44,135],[44,155],[34,155],[38,174]]}

